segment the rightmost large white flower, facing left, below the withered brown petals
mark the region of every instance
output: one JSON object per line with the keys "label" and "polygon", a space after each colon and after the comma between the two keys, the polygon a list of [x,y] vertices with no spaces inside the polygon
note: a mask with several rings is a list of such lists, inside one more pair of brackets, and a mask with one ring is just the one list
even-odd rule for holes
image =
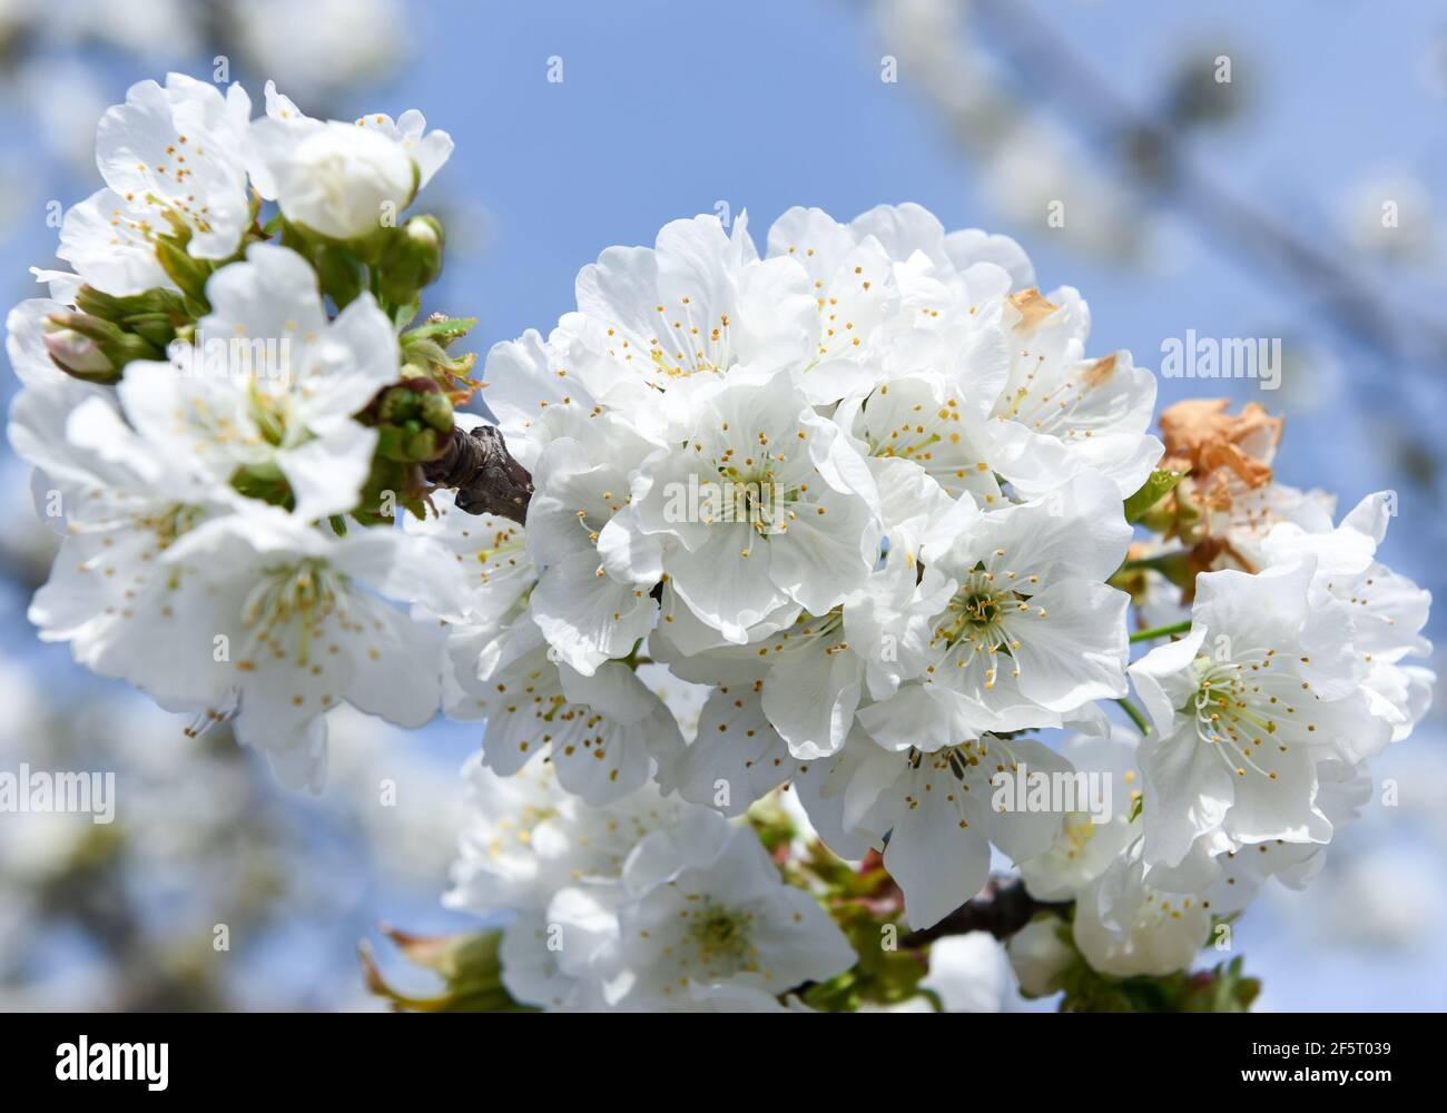
{"label": "rightmost large white flower, facing left, below the withered brown petals", "polygon": [[1140,745],[1145,860],[1179,866],[1282,839],[1323,844],[1318,761],[1382,750],[1350,609],[1312,595],[1315,560],[1197,577],[1191,632],[1130,666],[1155,729]]}

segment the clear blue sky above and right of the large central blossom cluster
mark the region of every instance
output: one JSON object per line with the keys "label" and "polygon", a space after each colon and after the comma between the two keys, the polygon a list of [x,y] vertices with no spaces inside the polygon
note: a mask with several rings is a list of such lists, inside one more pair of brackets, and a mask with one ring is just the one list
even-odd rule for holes
{"label": "clear blue sky above and right of the large central blossom cluster", "polygon": [[[1172,221],[1168,246],[1139,269],[1082,256],[1049,230],[1000,221],[981,198],[978,166],[952,149],[909,69],[897,84],[880,81],[883,51],[865,4],[424,7],[437,42],[395,101],[425,106],[453,133],[449,195],[485,213],[483,250],[454,263],[438,295],[450,311],[482,317],[482,344],[527,327],[546,331],[570,307],[580,265],[609,245],[651,242],[666,220],[725,203],[748,211],[763,242],[793,204],[846,217],[912,200],[946,227],[1016,234],[1043,287],[1087,295],[1100,350],[1129,347],[1139,363],[1158,366],[1162,339],[1194,329],[1285,333],[1288,356],[1294,337],[1331,352],[1336,382],[1283,392],[1292,399],[1282,473],[1338,491],[1344,505],[1401,482],[1379,421],[1405,424],[1404,408],[1444,401],[1441,368],[1388,366],[1344,343],[1301,291],[1243,265],[1189,221]],[[1194,140],[1192,161],[1311,242],[1331,232],[1337,195],[1357,177],[1405,168],[1435,188],[1447,172],[1438,153],[1447,116],[1422,80],[1425,45],[1447,30],[1447,16],[1430,4],[1395,4],[1391,19],[1343,0],[1049,10],[1078,55],[1139,110],[1159,100],[1188,49],[1229,52],[1250,110],[1243,123]],[[547,81],[554,56],[563,62],[557,84]],[[1440,292],[1438,275],[1405,297],[1431,311]],[[1372,386],[1383,381],[1389,391]],[[1197,386],[1163,381],[1162,402]],[[1250,384],[1226,386],[1278,402]],[[1420,509],[1404,495],[1399,533],[1412,534],[1414,520],[1427,525]],[[1415,547],[1398,559],[1406,572],[1435,572]]]}

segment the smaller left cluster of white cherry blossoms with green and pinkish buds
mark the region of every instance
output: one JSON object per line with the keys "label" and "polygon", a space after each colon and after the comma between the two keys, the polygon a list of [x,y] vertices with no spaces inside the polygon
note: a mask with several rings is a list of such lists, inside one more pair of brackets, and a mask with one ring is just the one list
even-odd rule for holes
{"label": "smaller left cluster of white cherry blossoms with green and pinkish buds", "polygon": [[64,534],[41,637],[315,784],[330,708],[420,727],[440,699],[440,632],[394,602],[446,591],[446,562],[368,527],[423,508],[466,397],[464,327],[407,329],[441,240],[402,211],[451,140],[271,85],[250,113],[179,74],[106,111],[72,271],[38,271],[49,297],[6,321],[9,434]]}

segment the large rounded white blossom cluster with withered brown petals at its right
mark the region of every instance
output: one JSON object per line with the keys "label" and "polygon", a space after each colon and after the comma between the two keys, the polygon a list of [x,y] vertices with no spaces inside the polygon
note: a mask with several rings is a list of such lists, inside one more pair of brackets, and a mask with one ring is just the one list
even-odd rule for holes
{"label": "large rounded white blossom cluster with withered brown petals at its right", "polygon": [[[1259,407],[1175,407],[1158,440],[1152,375],[1088,356],[1084,301],[1010,240],[800,208],[760,253],[697,217],[576,292],[488,357],[525,525],[410,522],[470,579],[447,711],[488,721],[480,767],[603,809],[787,789],[838,855],[883,855],[915,929],[1000,852],[1071,902],[1014,945],[1048,993],[1182,971],[1266,877],[1302,884],[1425,711],[1430,601],[1375,559],[1392,496],[1334,525],[1272,479]],[[1132,664],[1137,638],[1165,644]],[[640,660],[702,706],[669,714]]]}

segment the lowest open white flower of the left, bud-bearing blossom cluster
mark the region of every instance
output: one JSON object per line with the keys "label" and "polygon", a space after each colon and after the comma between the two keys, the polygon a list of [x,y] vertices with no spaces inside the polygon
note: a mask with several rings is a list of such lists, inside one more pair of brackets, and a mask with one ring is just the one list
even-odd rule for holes
{"label": "lowest open white flower of the left, bud-bearing blossom cluster", "polygon": [[441,630],[396,605],[456,606],[430,543],[395,530],[334,538],[247,507],[192,528],[162,563],[165,593],[137,612],[152,650],[122,674],[161,692],[184,661],[197,680],[184,702],[234,712],[237,738],[285,782],[321,783],[326,715],[341,702],[410,728],[436,714]]}

